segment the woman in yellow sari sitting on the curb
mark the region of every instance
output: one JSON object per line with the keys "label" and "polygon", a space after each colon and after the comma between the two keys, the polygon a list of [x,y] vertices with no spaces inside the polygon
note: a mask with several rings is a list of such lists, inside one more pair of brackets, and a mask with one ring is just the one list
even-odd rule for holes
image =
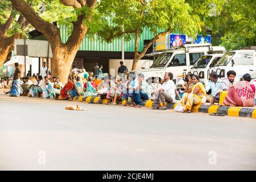
{"label": "woman in yellow sari sitting on the curb", "polygon": [[180,104],[184,107],[183,113],[191,113],[193,105],[205,104],[206,102],[206,90],[204,85],[199,82],[199,76],[193,75],[191,78],[192,86],[191,93],[184,93],[181,98]]}

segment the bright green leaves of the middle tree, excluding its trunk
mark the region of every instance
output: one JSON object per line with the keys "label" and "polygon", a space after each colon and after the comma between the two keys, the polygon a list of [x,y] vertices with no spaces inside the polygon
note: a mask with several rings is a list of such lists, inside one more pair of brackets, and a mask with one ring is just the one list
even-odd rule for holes
{"label": "bright green leaves of the middle tree, excluding its trunk", "polygon": [[[189,2],[189,1],[188,1]],[[98,16],[95,18],[98,27],[89,30],[90,34],[97,33],[106,40],[113,40],[125,34],[130,38],[136,31],[142,32],[148,28],[157,35],[171,28],[172,32],[182,32],[195,37],[201,32],[207,9],[193,9],[184,0],[101,0],[98,3]],[[196,1],[193,1],[196,2]],[[207,3],[205,3],[207,7]]]}

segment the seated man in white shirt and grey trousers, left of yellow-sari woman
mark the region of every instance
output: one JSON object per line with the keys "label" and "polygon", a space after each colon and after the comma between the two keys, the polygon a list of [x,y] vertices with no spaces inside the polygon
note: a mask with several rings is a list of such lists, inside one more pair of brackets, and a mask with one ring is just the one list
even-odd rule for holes
{"label": "seated man in white shirt and grey trousers, left of yellow-sari woman", "polygon": [[[166,102],[174,101],[175,94],[180,100],[179,93],[177,93],[176,90],[176,85],[174,81],[172,81],[173,77],[174,75],[172,73],[165,73],[163,85],[161,85],[157,91],[152,92],[153,94],[155,94],[155,100],[152,104],[152,109],[166,110]],[[160,105],[161,103],[163,104],[162,107]]]}

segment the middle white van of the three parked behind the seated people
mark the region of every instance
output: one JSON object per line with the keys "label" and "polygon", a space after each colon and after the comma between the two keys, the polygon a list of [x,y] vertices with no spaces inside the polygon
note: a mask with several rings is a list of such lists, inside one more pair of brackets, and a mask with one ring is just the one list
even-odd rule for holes
{"label": "middle white van of the three parked behind the seated people", "polygon": [[213,71],[213,68],[217,64],[218,60],[220,60],[223,55],[224,54],[221,53],[201,56],[191,68],[191,74],[198,75],[199,81],[207,86],[209,83],[210,72]]}

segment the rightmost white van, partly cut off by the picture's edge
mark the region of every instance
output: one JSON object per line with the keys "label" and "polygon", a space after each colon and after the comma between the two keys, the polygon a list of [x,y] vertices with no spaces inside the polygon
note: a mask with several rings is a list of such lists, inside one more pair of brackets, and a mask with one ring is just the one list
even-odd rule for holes
{"label": "rightmost white van, partly cut off by the picture's edge", "polygon": [[233,70],[237,73],[236,80],[240,81],[245,73],[256,71],[256,51],[237,50],[226,52],[218,61],[213,71],[216,71],[220,78],[225,78],[226,73]]}

